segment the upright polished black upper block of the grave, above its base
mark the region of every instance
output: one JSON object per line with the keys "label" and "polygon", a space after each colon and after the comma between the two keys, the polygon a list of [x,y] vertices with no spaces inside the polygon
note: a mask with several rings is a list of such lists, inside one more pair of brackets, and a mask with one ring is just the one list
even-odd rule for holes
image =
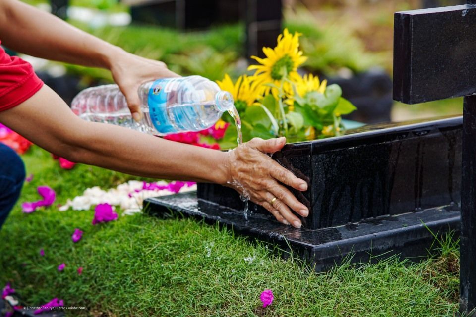
{"label": "upright polished black upper block of the grave, above its base", "polygon": [[[292,191],[310,211],[303,226],[320,229],[459,203],[461,137],[461,117],[370,125],[287,144],[273,159],[308,182],[308,191]],[[244,206],[237,192],[216,184],[198,184],[197,195],[236,210]]]}

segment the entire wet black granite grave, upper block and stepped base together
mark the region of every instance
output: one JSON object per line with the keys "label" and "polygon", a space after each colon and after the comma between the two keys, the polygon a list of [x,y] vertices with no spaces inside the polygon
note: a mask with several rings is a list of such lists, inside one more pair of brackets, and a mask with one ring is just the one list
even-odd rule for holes
{"label": "entire wet black granite grave, upper block and stepped base together", "polygon": [[418,260],[434,236],[459,230],[462,118],[367,126],[350,135],[287,144],[273,159],[306,179],[303,227],[277,222],[215,184],[197,193],[152,198],[151,214],[179,214],[230,225],[235,232],[291,247],[318,271],[399,254]]}

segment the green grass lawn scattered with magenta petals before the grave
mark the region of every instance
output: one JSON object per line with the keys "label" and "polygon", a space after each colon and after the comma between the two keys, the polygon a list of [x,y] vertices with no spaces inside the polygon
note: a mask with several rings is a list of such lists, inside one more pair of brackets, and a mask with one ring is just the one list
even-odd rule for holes
{"label": "green grass lawn scattered with magenta petals before the grave", "polygon": [[[35,176],[20,203],[38,199],[39,185],[53,187],[61,204],[87,187],[132,179],[86,165],[61,170],[37,147],[23,159]],[[274,256],[272,247],[191,219],[119,212],[117,221],[93,226],[92,210],[52,206],[24,214],[19,205],[0,231],[0,283],[10,281],[29,305],[60,297],[87,308],[68,316],[435,317],[454,316],[457,308],[454,243],[444,242],[439,256],[420,264],[394,258],[317,274],[297,259]],[[74,228],[84,231],[76,244]],[[275,300],[263,309],[259,294],[266,288]]]}

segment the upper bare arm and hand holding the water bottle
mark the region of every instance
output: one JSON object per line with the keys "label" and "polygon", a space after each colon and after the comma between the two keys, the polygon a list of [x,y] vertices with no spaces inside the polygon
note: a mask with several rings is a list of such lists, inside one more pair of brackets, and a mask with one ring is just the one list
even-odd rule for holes
{"label": "upper bare arm and hand holding the water bottle", "polygon": [[178,76],[161,61],[127,53],[18,0],[0,0],[0,39],[20,53],[109,69],[137,121],[141,118],[139,86],[157,78]]}

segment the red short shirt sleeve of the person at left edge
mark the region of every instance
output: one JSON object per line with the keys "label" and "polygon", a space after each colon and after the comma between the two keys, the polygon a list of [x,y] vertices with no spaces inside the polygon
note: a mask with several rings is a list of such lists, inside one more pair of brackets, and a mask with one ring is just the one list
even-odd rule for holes
{"label": "red short shirt sleeve of the person at left edge", "polygon": [[[1,41],[0,41],[1,44]],[[0,111],[17,106],[43,86],[30,63],[0,47]]]}

